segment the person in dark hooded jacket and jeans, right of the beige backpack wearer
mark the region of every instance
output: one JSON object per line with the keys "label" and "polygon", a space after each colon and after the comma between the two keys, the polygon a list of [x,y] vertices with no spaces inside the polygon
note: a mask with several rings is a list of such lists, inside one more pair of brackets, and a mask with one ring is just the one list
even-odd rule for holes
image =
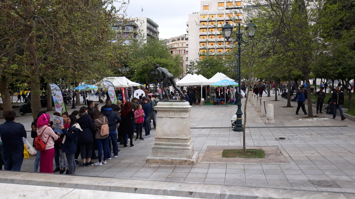
{"label": "person in dark hooded jacket and jeans, right of the beige backpack wearer", "polygon": [[[102,114],[106,116],[109,124],[109,137],[111,139],[112,143],[112,150],[113,150],[113,157],[116,158],[118,157],[118,145],[117,145],[117,128],[116,124],[121,122],[121,117],[116,114],[116,112],[113,112],[111,106],[109,104],[106,104],[104,106],[104,110],[102,111]],[[109,142],[107,142],[109,143]],[[107,144],[107,148],[109,149],[109,144]],[[108,150],[108,156],[107,159],[111,159],[111,150]]]}

